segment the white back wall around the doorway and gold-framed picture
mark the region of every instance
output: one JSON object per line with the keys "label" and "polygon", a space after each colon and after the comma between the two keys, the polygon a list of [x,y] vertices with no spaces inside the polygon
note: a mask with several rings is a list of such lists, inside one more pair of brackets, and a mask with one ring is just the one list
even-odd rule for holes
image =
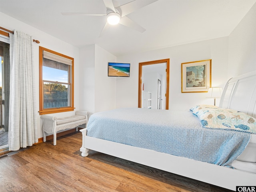
{"label": "white back wall around the doorway and gold-framed picture", "polygon": [[[181,63],[212,59],[212,86],[224,87],[228,80],[228,37],[159,50],[120,56],[118,62],[131,63],[130,78],[116,81],[116,107],[138,106],[138,63],[170,58],[169,109],[189,110],[196,104],[213,104],[206,93],[181,93]],[[218,104],[219,100],[216,100]]]}

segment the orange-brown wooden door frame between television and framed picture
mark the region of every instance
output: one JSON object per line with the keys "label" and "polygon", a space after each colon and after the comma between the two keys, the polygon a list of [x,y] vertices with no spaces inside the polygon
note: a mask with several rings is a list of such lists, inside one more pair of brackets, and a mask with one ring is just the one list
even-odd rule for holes
{"label": "orange-brown wooden door frame between television and framed picture", "polygon": [[139,81],[138,81],[138,108],[141,108],[141,89],[142,89],[142,66],[166,63],[166,102],[165,109],[169,109],[169,71],[170,71],[170,59],[161,59],[155,61],[141,62],[139,63]]}

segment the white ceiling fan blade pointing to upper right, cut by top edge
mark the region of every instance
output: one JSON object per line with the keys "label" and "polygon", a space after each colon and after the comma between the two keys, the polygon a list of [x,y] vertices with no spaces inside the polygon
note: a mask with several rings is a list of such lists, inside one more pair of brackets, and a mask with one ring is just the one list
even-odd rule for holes
{"label": "white ceiling fan blade pointing to upper right, cut by top edge", "polygon": [[131,12],[134,12],[137,9],[140,9],[140,8],[147,6],[151,3],[154,3],[156,1],[158,1],[158,0],[142,0],[142,1],[134,0],[132,2],[129,2],[129,3],[126,3],[124,5],[117,7],[117,9],[121,10],[122,17],[123,17],[123,16],[128,15]]}

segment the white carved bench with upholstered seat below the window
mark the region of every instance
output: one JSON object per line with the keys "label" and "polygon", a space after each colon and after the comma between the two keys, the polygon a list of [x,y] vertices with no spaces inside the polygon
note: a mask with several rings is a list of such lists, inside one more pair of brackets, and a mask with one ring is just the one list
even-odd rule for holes
{"label": "white carved bench with upholstered seat below the window", "polygon": [[46,134],[53,134],[53,145],[56,145],[57,132],[64,129],[76,128],[88,123],[87,111],[76,111],[76,115],[64,118],[56,118],[55,116],[42,115],[43,120],[43,141],[46,142]]}

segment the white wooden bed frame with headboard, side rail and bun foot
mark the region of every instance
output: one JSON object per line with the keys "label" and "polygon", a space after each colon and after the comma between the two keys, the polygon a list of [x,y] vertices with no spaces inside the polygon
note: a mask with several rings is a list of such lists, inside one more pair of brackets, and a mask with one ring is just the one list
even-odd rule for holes
{"label": "white wooden bed frame with headboard, side rail and bun foot", "polygon": [[[220,107],[232,108],[256,117],[256,71],[231,78],[224,87]],[[165,153],[86,136],[82,132],[82,156],[95,150],[118,158],[227,188],[255,186],[256,174]]]}

